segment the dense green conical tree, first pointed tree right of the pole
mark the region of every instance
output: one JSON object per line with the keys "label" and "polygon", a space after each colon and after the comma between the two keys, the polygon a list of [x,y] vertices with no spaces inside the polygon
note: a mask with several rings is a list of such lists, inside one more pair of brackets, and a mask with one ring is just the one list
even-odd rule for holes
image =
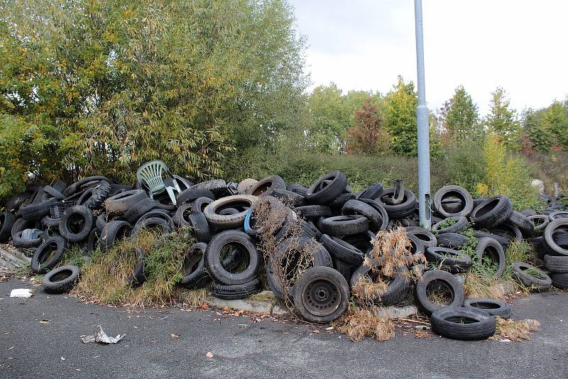
{"label": "dense green conical tree, first pointed tree right of the pole", "polygon": [[477,105],[463,86],[455,89],[442,110],[442,126],[453,141],[471,141],[483,135]]}

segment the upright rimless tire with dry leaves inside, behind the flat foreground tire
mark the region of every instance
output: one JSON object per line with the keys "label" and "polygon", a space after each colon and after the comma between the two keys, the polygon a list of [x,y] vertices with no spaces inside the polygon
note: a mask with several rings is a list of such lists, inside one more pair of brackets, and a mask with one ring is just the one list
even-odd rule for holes
{"label": "upright rimless tire with dry leaves inside, behind the flat foreground tire", "polygon": [[[448,292],[449,301],[447,305],[435,304],[428,298],[428,293],[432,290],[444,290]],[[464,304],[464,286],[456,277],[446,271],[431,270],[422,275],[422,280],[416,283],[414,292],[416,305],[422,313],[432,314],[436,309],[444,307],[461,307]]]}

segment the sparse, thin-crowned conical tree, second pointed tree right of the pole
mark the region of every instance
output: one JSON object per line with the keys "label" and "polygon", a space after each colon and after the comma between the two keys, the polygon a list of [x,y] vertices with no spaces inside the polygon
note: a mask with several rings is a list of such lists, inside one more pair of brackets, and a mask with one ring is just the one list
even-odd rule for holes
{"label": "sparse, thin-crowned conical tree, second pointed tree right of the pole", "polygon": [[516,148],[520,124],[516,111],[510,108],[510,100],[502,87],[491,92],[490,106],[491,110],[485,120],[488,132],[500,136],[507,148]]}

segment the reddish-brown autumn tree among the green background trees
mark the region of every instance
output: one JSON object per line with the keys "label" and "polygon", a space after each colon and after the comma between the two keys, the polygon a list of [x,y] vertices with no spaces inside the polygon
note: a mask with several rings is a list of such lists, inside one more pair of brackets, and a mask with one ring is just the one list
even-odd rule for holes
{"label": "reddish-brown autumn tree among the green background trees", "polygon": [[355,109],[354,126],[347,132],[347,152],[381,155],[388,152],[388,135],[383,128],[383,115],[368,97],[361,109]]}

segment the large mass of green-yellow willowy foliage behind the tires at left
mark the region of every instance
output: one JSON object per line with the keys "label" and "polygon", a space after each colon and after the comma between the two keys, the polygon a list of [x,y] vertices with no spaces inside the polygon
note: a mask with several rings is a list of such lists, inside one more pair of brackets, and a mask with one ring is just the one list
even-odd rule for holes
{"label": "large mass of green-yellow willowy foliage behind the tires at left", "polygon": [[283,0],[4,1],[0,191],[26,172],[131,182],[156,158],[222,175],[302,110],[293,23]]}

